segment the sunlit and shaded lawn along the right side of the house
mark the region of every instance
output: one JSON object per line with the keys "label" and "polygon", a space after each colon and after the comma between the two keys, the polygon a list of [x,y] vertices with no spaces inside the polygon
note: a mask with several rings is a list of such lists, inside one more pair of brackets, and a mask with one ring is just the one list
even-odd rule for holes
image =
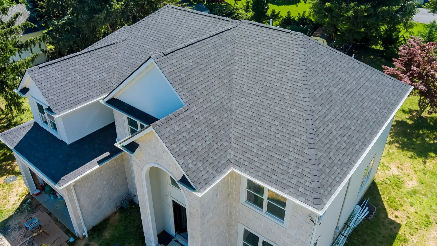
{"label": "sunlit and shaded lawn along the right side of the house", "polygon": [[351,234],[350,246],[437,244],[437,116],[417,118],[417,97],[395,115],[378,173],[364,197],[375,217]]}

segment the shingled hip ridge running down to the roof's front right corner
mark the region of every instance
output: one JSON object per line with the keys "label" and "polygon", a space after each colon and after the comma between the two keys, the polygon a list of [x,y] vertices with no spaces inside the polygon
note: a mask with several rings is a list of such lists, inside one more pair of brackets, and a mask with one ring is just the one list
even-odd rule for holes
{"label": "shingled hip ridge running down to the roof's front right corner", "polygon": [[305,42],[303,36],[302,33],[298,35],[298,52],[305,114],[305,131],[308,142],[309,169],[311,173],[312,202],[315,208],[322,209],[323,199],[321,190],[322,186],[320,184],[320,161],[316,143],[316,129],[313,119],[312,87],[308,79],[308,69],[306,65],[307,42]]}

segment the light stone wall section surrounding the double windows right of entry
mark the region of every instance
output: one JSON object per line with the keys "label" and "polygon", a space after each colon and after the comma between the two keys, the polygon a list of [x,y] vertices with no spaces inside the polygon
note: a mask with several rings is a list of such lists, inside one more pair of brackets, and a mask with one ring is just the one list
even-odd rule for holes
{"label": "light stone wall section surrounding the double windows right of entry", "polygon": [[284,228],[271,221],[266,215],[240,203],[239,173],[229,173],[229,182],[229,246],[236,246],[238,243],[238,223],[279,246],[309,246],[314,224],[309,221],[308,215],[314,216],[314,214],[308,209],[293,202],[288,228]]}

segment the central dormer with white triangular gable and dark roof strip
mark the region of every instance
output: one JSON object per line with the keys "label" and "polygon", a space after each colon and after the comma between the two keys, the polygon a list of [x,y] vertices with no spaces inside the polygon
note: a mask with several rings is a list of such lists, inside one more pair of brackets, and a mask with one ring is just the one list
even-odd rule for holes
{"label": "central dormer with white triangular gable and dark roof strip", "polygon": [[125,129],[118,129],[119,140],[185,105],[152,58],[118,85],[102,103],[122,114]]}

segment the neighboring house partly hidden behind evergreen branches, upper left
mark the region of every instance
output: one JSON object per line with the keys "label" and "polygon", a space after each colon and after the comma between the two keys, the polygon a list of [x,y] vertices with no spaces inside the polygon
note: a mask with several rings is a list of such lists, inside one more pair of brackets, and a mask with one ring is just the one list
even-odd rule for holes
{"label": "neighboring house partly hidden behind evergreen branches, upper left", "polygon": [[[16,14],[16,13],[18,13],[18,12],[21,13],[21,16],[18,17],[17,21],[15,22],[16,25],[21,24],[21,23],[23,23],[23,22],[25,22],[25,21],[30,21],[30,22],[32,22],[33,24],[36,24],[36,25],[37,25],[37,27],[35,27],[35,28],[27,28],[26,30],[24,30],[23,35],[21,35],[20,37],[18,37],[18,39],[19,39],[20,41],[24,42],[24,41],[25,41],[26,39],[28,39],[28,38],[32,38],[32,37],[35,37],[35,36],[38,36],[38,35],[43,34],[43,31],[44,31],[44,30],[42,30],[41,26],[38,25],[37,23],[34,23],[35,21],[31,21],[31,20],[29,20],[30,12],[26,9],[26,6],[24,6],[23,3],[20,3],[20,4],[17,4],[17,5],[14,5],[14,6],[9,10],[9,13],[8,13],[7,15],[1,15],[1,14],[0,14],[0,21],[3,21],[3,22],[9,21],[10,18],[11,18],[14,14]],[[47,47],[45,46],[45,43],[44,43],[44,42],[41,43],[41,49],[40,49],[40,46],[39,46],[39,45],[35,45],[35,47],[32,47],[32,51],[33,51],[34,53],[40,53],[40,54],[38,55],[38,57],[35,59],[35,62],[33,63],[34,65],[36,65],[36,64],[40,64],[40,63],[43,63],[43,62],[46,62],[46,61],[47,61],[47,56],[46,56],[44,53],[42,53],[42,50],[46,50],[46,49],[47,49]],[[20,56],[20,55],[21,55],[21,56]],[[29,56],[31,56],[31,55],[32,55],[31,51],[28,50],[28,51],[26,51],[26,52],[24,52],[24,53],[14,55],[14,57],[11,57],[11,58],[10,58],[10,62],[18,61],[18,60],[20,60],[20,59],[27,58],[27,57],[29,57]]]}

